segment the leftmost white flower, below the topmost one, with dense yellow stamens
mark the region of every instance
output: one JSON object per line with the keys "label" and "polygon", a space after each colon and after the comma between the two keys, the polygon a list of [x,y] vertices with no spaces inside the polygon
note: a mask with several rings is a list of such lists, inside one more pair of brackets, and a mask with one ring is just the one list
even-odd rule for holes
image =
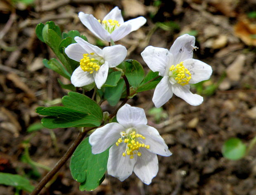
{"label": "leftmost white flower, below the topmost one, with dense yellow stamens", "polygon": [[75,41],[77,43],[70,44],[65,49],[69,58],[80,62],[71,76],[71,83],[75,87],[82,87],[95,81],[100,89],[107,80],[109,67],[116,67],[126,57],[126,48],[114,45],[100,49],[81,37],[75,37]]}

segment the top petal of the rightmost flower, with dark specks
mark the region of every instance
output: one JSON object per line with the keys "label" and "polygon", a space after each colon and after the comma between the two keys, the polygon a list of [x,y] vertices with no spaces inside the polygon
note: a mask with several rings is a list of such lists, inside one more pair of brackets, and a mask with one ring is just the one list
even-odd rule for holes
{"label": "top petal of the rightmost flower, with dark specks", "polygon": [[173,54],[174,65],[193,57],[193,47],[195,37],[188,34],[178,37],[171,46],[170,52]]}

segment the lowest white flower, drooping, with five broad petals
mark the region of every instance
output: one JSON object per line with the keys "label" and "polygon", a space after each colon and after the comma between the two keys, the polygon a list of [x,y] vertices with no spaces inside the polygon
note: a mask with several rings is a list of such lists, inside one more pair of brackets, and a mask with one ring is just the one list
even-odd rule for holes
{"label": "lowest white flower, drooping, with five broad petals", "polygon": [[123,181],[135,172],[143,183],[151,183],[158,172],[156,154],[170,156],[168,146],[159,132],[147,125],[143,109],[125,104],[116,119],[118,123],[108,123],[90,135],[92,153],[102,153],[111,146],[108,174]]}

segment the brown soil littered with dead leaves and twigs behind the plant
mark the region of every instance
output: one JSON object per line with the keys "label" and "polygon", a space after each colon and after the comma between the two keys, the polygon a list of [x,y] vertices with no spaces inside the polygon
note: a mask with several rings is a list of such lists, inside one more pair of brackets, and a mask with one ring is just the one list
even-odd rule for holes
{"label": "brown soil littered with dead leaves and twigs behind the plant", "polygon": [[[180,34],[190,33],[196,36],[199,47],[194,58],[213,69],[203,88],[216,88],[203,91],[204,102],[197,107],[174,95],[163,106],[159,120],[149,114],[154,107],[153,90],[128,101],[145,109],[149,125],[159,130],[173,153],[170,157],[158,157],[159,172],[150,185],[143,184],[135,174],[123,182],[106,174],[96,190],[81,192],[79,183],[72,179],[68,161],[40,194],[256,195],[255,149],[241,160],[228,160],[221,153],[228,138],[238,137],[249,144],[256,136],[256,44],[251,38],[256,34],[256,20],[248,15],[255,12],[254,0],[35,0],[33,5],[22,2],[0,1],[1,172],[26,175],[36,186],[47,171],[36,168],[36,174],[33,166],[22,161],[25,148],[29,148],[32,160],[53,167],[78,135],[76,128],[26,132],[29,125],[42,118],[36,114],[36,107],[58,105],[59,98],[68,92],[57,79],[69,82],[43,66],[43,58],[50,59],[54,54],[36,37],[36,25],[52,20],[62,31],[78,30],[90,43],[99,44],[77,13],[82,11],[102,19],[118,6],[125,21],[137,16],[147,19],[145,26],[117,42],[128,49],[127,59],[138,60],[149,70],[140,56],[146,46],[168,49]],[[159,27],[159,22],[167,27]],[[241,22],[247,26],[236,30]],[[192,91],[197,92],[195,87]],[[114,107],[103,103],[102,109],[111,113]],[[14,193],[13,187],[0,185],[1,195]]]}

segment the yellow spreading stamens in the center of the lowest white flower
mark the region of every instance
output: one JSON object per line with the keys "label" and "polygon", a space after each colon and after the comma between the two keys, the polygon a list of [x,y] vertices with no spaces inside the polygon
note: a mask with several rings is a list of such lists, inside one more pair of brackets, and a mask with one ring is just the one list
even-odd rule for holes
{"label": "yellow spreading stamens in the center of the lowest white flower", "polygon": [[130,158],[133,158],[133,155],[141,156],[141,153],[138,149],[146,148],[149,149],[149,145],[145,145],[142,140],[146,139],[143,135],[135,132],[133,128],[128,129],[128,133],[121,132],[121,138],[116,142],[116,146],[119,146],[121,142],[126,143],[126,151],[123,152],[123,156],[129,155]]}

